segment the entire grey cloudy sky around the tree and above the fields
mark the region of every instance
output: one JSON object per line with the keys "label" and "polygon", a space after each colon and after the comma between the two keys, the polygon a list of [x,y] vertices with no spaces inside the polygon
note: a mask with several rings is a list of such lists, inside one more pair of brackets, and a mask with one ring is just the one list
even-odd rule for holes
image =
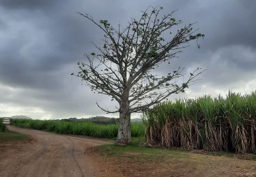
{"label": "entire grey cloudy sky around the tree and above the fields", "polygon": [[[205,34],[173,61],[189,71],[202,67],[195,85],[184,95],[225,95],[229,89],[251,93],[256,88],[256,1],[117,1],[0,0],[0,116],[68,118],[103,115],[96,101],[113,107],[109,97],[91,93],[70,74],[83,54],[102,44],[102,33],[76,12],[122,27],[149,5],[173,10],[184,24],[197,22]],[[171,98],[174,98],[171,97]],[[109,115],[117,116],[117,115]],[[134,116],[133,116],[134,117]]]}

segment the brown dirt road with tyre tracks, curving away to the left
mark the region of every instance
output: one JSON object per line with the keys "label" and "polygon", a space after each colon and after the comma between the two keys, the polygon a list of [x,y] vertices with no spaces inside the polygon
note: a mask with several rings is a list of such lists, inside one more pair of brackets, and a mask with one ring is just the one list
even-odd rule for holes
{"label": "brown dirt road with tyre tracks, curving away to the left", "polygon": [[87,148],[108,142],[11,126],[9,129],[30,135],[33,140],[1,144],[1,177],[115,176],[104,168],[104,162],[87,153]]}

